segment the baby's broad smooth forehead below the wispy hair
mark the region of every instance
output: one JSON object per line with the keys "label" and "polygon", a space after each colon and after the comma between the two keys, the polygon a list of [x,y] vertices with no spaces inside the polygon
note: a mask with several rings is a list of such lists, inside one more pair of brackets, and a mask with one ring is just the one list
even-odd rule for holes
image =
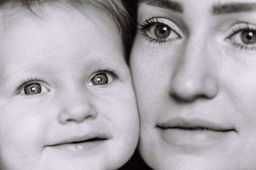
{"label": "baby's broad smooth forehead below the wispy hair", "polygon": [[[24,9],[22,10],[24,11]],[[97,18],[95,22],[92,18],[84,17],[78,12],[78,15],[75,12],[68,13],[70,15],[68,16],[65,11],[54,9],[46,13],[46,18],[40,18],[31,12],[23,13],[23,11],[22,15],[16,15],[16,11],[20,11],[20,9],[5,14],[6,21],[10,20],[10,22],[5,24],[7,26],[3,27],[3,31],[0,31],[0,44],[2,44],[0,46],[0,64],[2,65],[11,67],[12,62],[19,62],[19,65],[22,66],[21,62],[25,62],[25,60],[29,64],[30,61],[32,63],[40,61],[47,63],[49,60],[45,60],[45,58],[64,56],[63,54],[59,55],[64,51],[66,58],[70,56],[79,58],[87,54],[88,60],[86,61],[89,63],[107,54],[110,55],[109,59],[112,58],[111,56],[116,53],[111,51],[114,42],[115,49],[121,46],[118,27],[108,20]],[[109,40],[114,42],[110,43]],[[96,57],[90,57],[95,55]],[[118,55],[119,60],[120,56],[123,55]],[[63,59],[64,57],[61,58],[61,60]]]}

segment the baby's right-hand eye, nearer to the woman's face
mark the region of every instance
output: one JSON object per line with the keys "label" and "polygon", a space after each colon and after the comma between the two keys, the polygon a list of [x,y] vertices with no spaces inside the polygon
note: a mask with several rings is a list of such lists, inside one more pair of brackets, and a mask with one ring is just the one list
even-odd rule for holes
{"label": "baby's right-hand eye, nearer to the woman's face", "polygon": [[89,86],[100,86],[109,84],[113,81],[113,77],[108,75],[107,73],[97,73],[92,77],[89,82]]}

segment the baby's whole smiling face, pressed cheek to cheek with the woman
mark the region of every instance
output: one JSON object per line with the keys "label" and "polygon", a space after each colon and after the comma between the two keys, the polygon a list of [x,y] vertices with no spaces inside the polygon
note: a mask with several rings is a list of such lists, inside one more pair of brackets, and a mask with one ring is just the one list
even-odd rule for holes
{"label": "baby's whole smiling face, pressed cheek to cheek with the woman", "polygon": [[117,169],[139,132],[118,26],[93,12],[45,9],[2,14],[2,169]]}

